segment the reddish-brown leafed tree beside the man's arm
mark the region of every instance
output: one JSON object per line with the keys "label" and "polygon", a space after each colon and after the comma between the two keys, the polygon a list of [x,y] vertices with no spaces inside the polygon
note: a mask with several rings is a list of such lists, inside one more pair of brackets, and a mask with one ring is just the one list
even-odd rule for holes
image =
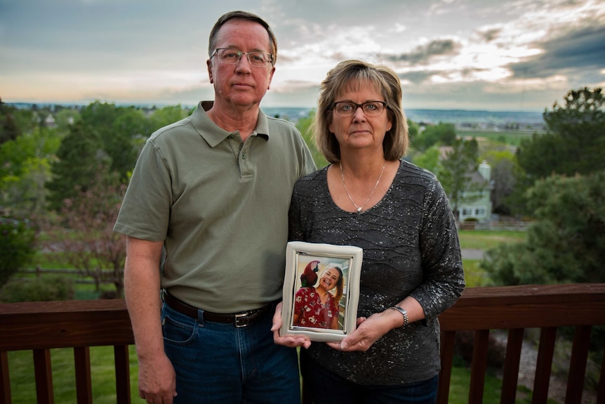
{"label": "reddish-brown leafed tree beside the man's arm", "polygon": [[105,167],[95,171],[91,185],[75,197],[67,198],[57,223],[45,223],[48,242],[45,247],[61,254],[84,276],[100,283],[114,284],[118,296],[124,291],[124,235],[114,232],[126,185],[117,173],[107,174]]}

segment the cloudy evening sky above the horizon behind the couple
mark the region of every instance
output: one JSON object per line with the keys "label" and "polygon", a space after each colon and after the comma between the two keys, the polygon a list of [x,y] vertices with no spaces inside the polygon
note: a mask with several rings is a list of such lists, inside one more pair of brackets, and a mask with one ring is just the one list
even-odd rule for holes
{"label": "cloudy evening sky above the horizon behind the couple", "polygon": [[605,85],[601,0],[0,0],[0,98],[211,100],[208,34],[233,10],[277,37],[265,107],[315,107],[345,59],[392,67],[411,109],[543,112]]}

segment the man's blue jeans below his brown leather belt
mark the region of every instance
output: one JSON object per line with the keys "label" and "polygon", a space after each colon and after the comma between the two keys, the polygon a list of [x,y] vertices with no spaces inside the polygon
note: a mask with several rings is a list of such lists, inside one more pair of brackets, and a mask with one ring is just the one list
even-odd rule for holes
{"label": "man's blue jeans below his brown leather belt", "polygon": [[272,311],[247,327],[204,322],[164,304],[164,350],[176,372],[174,403],[300,403],[294,348],[274,344]]}

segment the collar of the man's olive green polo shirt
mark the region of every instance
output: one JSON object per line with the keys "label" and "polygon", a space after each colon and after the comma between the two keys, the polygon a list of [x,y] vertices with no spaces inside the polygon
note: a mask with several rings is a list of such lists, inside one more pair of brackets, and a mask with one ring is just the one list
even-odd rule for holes
{"label": "collar of the man's olive green polo shirt", "polygon": [[[191,115],[191,123],[199,136],[211,146],[211,148],[224,141],[230,135],[237,133],[237,131],[230,132],[225,131],[220,126],[215,124],[206,111],[212,107],[213,101],[200,101]],[[262,110],[258,110],[258,118],[256,119],[256,127],[253,134],[260,136],[269,141],[269,122],[267,115]]]}

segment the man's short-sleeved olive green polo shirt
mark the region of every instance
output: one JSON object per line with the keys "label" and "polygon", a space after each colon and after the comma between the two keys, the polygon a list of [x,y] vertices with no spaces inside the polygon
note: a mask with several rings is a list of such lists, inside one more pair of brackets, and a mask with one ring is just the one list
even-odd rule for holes
{"label": "man's short-sleeved olive green polo shirt", "polygon": [[315,165],[290,122],[260,111],[242,143],[210,106],[149,137],[114,230],[164,241],[161,287],[175,297],[234,313],[281,297],[292,189]]}

